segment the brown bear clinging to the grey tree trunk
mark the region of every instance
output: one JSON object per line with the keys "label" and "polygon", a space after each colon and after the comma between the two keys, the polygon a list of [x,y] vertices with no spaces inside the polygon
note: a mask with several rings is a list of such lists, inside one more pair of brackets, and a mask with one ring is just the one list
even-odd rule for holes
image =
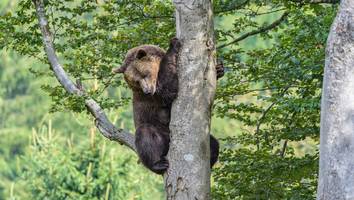
{"label": "brown bear clinging to the grey tree trunk", "polygon": [[[170,142],[170,114],[177,97],[178,39],[170,42],[165,51],[154,45],[130,49],[123,65],[113,70],[124,73],[124,79],[133,91],[133,112],[136,128],[135,145],[141,162],[151,171],[163,174],[168,168],[166,155]],[[217,77],[223,75],[223,66],[217,65]],[[218,159],[219,143],[210,136],[210,166]]]}

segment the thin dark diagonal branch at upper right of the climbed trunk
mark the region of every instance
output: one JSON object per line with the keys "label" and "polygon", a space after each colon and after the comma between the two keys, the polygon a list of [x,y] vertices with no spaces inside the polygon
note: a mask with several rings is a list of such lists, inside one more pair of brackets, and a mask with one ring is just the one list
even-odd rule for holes
{"label": "thin dark diagonal branch at upper right of the climbed trunk", "polygon": [[244,39],[246,39],[246,38],[248,38],[250,36],[270,31],[273,28],[279,26],[287,18],[288,15],[289,15],[288,12],[284,12],[283,15],[279,19],[277,19],[273,23],[269,24],[268,26],[263,26],[263,27],[260,27],[259,29],[256,29],[256,30],[250,31],[248,33],[245,33],[245,34],[241,35],[240,37],[236,38],[235,40],[233,40],[233,41],[231,41],[229,43],[222,44],[222,45],[218,46],[217,49],[221,49],[221,48],[227,47],[229,45],[238,43],[238,42],[240,42],[240,41],[242,41],[242,40],[244,40]]}

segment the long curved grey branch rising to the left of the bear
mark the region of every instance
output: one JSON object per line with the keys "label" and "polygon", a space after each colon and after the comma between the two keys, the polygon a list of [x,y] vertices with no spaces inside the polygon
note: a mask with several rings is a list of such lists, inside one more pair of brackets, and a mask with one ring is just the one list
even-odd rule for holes
{"label": "long curved grey branch rising to the left of the bear", "polygon": [[[56,55],[52,33],[49,30],[48,20],[45,15],[43,0],[33,0],[33,3],[36,7],[36,13],[38,17],[39,27],[42,32],[43,45],[51,69],[54,71],[54,74],[60,84],[65,88],[67,92],[73,95],[85,96],[83,90],[80,90],[68,77],[63,67],[59,63],[58,56]],[[122,130],[117,129],[109,121],[107,115],[104,113],[103,109],[98,105],[98,103],[92,98],[88,97],[85,100],[87,109],[95,118],[96,127],[102,133],[103,136],[110,140],[117,141],[121,144],[124,144],[135,151],[134,144],[134,135]]]}

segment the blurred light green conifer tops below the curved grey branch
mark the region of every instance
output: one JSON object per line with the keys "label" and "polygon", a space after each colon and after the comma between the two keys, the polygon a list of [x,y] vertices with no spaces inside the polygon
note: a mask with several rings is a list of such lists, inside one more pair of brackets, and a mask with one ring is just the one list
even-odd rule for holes
{"label": "blurred light green conifer tops below the curved grey branch", "polygon": [[162,198],[162,177],[137,167],[132,152],[107,144],[94,130],[79,144],[52,131],[33,134],[23,162],[33,199]]}

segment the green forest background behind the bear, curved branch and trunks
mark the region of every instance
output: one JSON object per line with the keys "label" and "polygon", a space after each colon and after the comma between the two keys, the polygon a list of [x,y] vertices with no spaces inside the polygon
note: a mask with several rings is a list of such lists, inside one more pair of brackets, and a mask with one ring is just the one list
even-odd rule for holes
{"label": "green forest background behind the bear, curved branch and trunks", "polygon": [[[0,199],[163,199],[162,177],[138,164],[130,150],[102,137],[78,104],[63,101],[66,94],[51,76],[38,30],[32,28],[36,21],[29,20],[31,1],[19,2],[0,0]],[[134,132],[130,91],[121,77],[106,87],[107,74],[134,45],[166,48],[174,35],[171,2],[60,6],[66,2],[71,1],[49,1],[57,13],[51,20],[62,28],[56,44],[67,70],[80,77],[81,66],[106,55],[96,65],[106,71],[85,70],[93,77],[86,87],[100,91],[100,103],[117,127]],[[285,0],[214,4],[218,56],[227,71],[219,81],[212,119],[212,133],[223,149],[212,173],[213,199],[314,199],[324,47],[336,5]],[[71,22],[65,12],[84,20]],[[101,42],[100,36],[118,23],[116,15],[125,22],[125,32],[106,37],[110,45],[82,44]],[[273,28],[240,39],[278,20]],[[97,35],[90,38],[85,31]]]}

